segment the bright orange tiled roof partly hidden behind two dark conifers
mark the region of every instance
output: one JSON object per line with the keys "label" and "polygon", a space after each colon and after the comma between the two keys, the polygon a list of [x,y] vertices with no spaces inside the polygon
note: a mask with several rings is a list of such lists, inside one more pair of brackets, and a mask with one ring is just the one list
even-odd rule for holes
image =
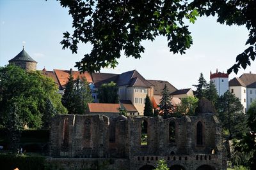
{"label": "bright orange tiled roof partly hidden behind two dark conifers", "polygon": [[[65,86],[69,78],[70,70],[54,69],[54,73],[56,74],[60,85],[62,87]],[[80,71],[72,71],[72,74],[75,80],[77,77],[84,77],[88,83],[92,83],[92,76],[88,72],[80,73]]]}

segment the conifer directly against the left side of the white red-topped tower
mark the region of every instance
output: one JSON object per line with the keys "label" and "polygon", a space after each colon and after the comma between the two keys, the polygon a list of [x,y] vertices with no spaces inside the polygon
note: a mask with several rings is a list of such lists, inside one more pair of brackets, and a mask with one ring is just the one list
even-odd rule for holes
{"label": "conifer directly against the left side of the white red-topped tower", "polygon": [[214,106],[215,106],[216,103],[218,102],[218,99],[219,99],[218,92],[217,92],[217,89],[216,89],[214,83],[213,83],[211,80],[210,80],[210,82],[206,85],[205,97],[206,97],[209,101],[212,101],[212,103],[214,104]]}

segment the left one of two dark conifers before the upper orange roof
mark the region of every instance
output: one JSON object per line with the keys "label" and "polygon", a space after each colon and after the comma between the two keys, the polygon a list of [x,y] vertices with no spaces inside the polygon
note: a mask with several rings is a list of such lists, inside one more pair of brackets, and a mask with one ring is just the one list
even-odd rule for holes
{"label": "left one of two dark conifers before the upper orange roof", "polygon": [[68,82],[66,84],[66,89],[61,99],[61,103],[68,110],[68,114],[74,114],[75,112],[75,92],[74,92],[74,77],[69,74]]}

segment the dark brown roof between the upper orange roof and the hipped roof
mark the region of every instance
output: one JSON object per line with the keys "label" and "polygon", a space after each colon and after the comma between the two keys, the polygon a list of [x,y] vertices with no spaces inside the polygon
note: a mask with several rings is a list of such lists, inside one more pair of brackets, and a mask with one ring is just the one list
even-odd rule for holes
{"label": "dark brown roof between the upper orange roof and the hipped roof", "polygon": [[103,83],[115,82],[117,78],[118,74],[92,73],[92,80],[95,87],[100,87]]}

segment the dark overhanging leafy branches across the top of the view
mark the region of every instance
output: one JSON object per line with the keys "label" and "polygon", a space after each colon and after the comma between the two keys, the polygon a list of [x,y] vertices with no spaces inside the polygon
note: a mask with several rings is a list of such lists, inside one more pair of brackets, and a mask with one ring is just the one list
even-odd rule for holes
{"label": "dark overhanging leafy branches across the top of the view", "polygon": [[60,0],[72,15],[74,32],[63,33],[63,49],[77,52],[77,44],[92,44],[92,51],[84,54],[76,66],[81,71],[99,71],[101,67],[115,67],[124,50],[125,56],[140,58],[144,47],[141,41],[154,41],[165,36],[170,52],[185,53],[193,41],[184,20],[194,23],[198,15],[218,15],[217,22],[227,25],[246,25],[250,30],[243,53],[228,73],[246,68],[255,60],[256,2],[252,0],[194,0],[194,1],[96,1]]}

